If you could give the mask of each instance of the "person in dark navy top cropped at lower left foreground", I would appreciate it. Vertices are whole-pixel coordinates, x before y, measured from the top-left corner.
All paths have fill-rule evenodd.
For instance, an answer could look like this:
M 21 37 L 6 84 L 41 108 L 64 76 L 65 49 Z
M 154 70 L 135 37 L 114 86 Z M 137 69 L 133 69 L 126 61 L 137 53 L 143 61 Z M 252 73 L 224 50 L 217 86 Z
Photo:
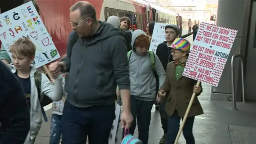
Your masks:
M 23 144 L 30 130 L 30 112 L 22 86 L 0 62 L 0 144 Z

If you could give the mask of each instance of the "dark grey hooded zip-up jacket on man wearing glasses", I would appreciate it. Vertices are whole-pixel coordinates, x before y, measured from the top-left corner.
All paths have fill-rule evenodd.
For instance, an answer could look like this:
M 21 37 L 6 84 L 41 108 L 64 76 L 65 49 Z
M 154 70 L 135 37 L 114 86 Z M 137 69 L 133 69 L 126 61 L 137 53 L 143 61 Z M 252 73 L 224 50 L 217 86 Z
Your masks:
M 69 72 L 65 91 L 67 101 L 86 108 L 115 103 L 116 86 L 130 89 L 126 43 L 122 31 L 107 22 L 90 38 L 71 32 L 67 56 L 62 59 Z

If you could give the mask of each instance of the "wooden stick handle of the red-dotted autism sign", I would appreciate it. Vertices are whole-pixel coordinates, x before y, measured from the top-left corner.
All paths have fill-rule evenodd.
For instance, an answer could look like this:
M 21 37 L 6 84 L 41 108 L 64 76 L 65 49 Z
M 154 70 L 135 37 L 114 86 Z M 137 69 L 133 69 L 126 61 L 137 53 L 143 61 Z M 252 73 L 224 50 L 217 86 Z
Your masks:
M 199 82 L 199 81 L 197 81 L 196 86 L 200 86 L 200 82 Z M 190 108 L 191 108 L 191 106 L 192 106 L 192 103 L 193 103 L 195 97 L 196 97 L 196 93 L 193 92 L 192 97 L 191 97 L 191 99 L 190 99 L 190 102 L 189 102 L 189 104 L 188 104 L 188 108 L 187 108 L 187 110 L 186 110 L 185 116 L 184 116 L 184 118 L 183 118 L 183 120 L 182 120 L 182 123 L 181 123 L 181 125 L 180 125 L 180 130 L 179 130 L 179 132 L 178 132 L 178 134 L 177 134 L 177 136 L 176 136 L 176 139 L 175 139 L 175 143 L 174 143 L 174 144 L 178 144 L 178 141 L 179 141 L 179 138 L 180 138 L 180 134 L 181 134 L 182 129 L 183 129 L 184 125 L 185 125 L 185 122 L 186 122 L 186 120 L 187 120 L 187 118 L 188 118 L 188 114 L 189 114 Z

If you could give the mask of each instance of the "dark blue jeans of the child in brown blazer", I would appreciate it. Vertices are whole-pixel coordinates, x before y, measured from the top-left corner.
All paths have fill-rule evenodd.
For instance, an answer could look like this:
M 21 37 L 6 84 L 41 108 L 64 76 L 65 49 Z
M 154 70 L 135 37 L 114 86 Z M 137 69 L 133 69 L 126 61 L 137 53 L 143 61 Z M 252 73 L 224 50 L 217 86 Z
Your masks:
M 195 117 L 188 117 L 183 127 L 183 136 L 186 140 L 186 144 L 195 144 L 193 136 L 193 124 Z M 183 120 L 183 118 L 182 118 Z M 166 144 L 174 144 L 178 131 L 180 129 L 180 116 L 177 110 L 174 111 L 172 116 L 168 116 L 168 132 Z

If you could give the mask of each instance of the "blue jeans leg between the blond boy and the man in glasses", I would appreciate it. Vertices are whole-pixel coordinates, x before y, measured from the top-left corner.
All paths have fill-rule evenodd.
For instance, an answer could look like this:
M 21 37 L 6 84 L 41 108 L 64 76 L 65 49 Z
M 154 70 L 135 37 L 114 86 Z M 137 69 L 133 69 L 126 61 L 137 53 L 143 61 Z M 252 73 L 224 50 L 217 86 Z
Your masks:
M 51 131 L 50 131 L 50 142 L 49 144 L 59 144 L 61 136 L 61 115 L 52 114 L 51 120 Z

